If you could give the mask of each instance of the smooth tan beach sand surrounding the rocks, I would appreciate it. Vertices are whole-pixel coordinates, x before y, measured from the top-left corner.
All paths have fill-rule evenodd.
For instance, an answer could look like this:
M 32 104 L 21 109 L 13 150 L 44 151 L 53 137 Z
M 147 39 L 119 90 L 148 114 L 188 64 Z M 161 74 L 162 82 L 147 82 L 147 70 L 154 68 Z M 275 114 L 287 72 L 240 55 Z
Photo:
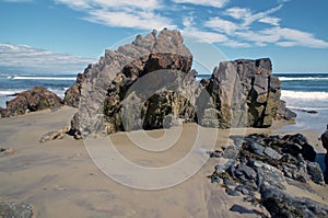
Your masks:
M 105 175 L 91 160 L 82 140 L 65 137 L 38 142 L 44 134 L 69 125 L 74 113 L 74 108 L 62 107 L 55 112 L 43 111 L 0 119 L 0 147 L 15 150 L 14 154 L 0 157 L 0 202 L 30 203 L 35 217 L 255 216 L 229 210 L 233 204 L 251 206 L 242 197 L 227 196 L 219 184 L 210 183 L 207 175 L 218 164 L 215 159 L 210 159 L 196 174 L 178 185 L 143 191 L 121 185 Z M 110 140 L 131 162 L 157 168 L 187 156 L 196 133 L 195 124 L 184 125 L 180 138 L 165 152 L 144 151 L 136 147 L 125 133 L 110 136 Z M 270 134 L 271 129 L 247 129 L 247 133 Z M 227 130 L 218 130 L 215 148 L 229 144 L 229 134 Z M 138 133 L 136 135 L 138 137 Z M 153 130 L 148 135 L 161 138 L 164 131 Z M 319 144 L 318 133 L 306 133 L 306 136 L 312 145 Z M 206 138 L 202 139 L 204 145 L 212 142 Z M 321 193 L 315 197 L 327 203 L 326 187 L 315 188 Z M 311 194 L 306 196 L 312 197 Z

